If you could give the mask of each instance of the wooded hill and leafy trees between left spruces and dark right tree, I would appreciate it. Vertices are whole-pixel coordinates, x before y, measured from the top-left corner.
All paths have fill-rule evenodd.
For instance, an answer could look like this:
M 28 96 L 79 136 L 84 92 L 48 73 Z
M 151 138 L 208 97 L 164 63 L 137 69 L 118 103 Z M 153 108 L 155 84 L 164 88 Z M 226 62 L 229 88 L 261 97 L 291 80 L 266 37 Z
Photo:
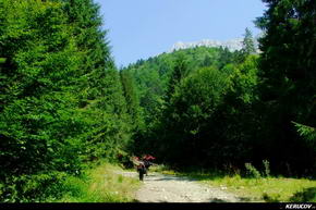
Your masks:
M 130 65 L 147 125 L 135 139 L 139 152 L 174 164 L 243 164 L 254 147 L 258 57 L 240 62 L 239 53 L 199 47 Z

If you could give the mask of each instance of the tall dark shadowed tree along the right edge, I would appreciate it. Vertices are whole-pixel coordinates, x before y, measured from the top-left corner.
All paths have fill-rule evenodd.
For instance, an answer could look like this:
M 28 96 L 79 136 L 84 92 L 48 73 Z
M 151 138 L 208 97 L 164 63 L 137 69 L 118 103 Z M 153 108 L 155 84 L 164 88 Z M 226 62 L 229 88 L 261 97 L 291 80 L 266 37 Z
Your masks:
M 316 4 L 313 0 L 264 2 L 268 10 L 257 20 L 265 34 L 259 40 L 262 145 L 267 147 L 265 156 L 279 163 L 279 171 L 287 171 L 290 162 L 295 174 L 313 173 L 315 150 L 291 122 L 316 126 Z

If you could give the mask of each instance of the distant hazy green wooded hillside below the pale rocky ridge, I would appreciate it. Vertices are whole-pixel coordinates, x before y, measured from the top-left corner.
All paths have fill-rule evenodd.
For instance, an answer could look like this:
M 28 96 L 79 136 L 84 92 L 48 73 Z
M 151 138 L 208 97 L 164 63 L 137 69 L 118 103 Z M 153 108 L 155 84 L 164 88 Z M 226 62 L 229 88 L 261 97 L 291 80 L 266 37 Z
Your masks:
M 161 110 L 166 106 L 166 99 L 173 92 L 172 81 L 179 81 L 179 71 L 183 71 L 182 77 L 198 67 L 222 65 L 218 58 L 232 60 L 231 53 L 227 49 L 199 47 L 194 49 L 179 50 L 172 53 L 162 53 L 148 60 L 139 60 L 135 64 L 126 67 L 135 82 L 135 90 L 139 98 L 142 119 L 145 120 L 146 127 L 156 126 L 161 116 Z M 178 67 L 177 67 L 178 66 Z M 179 71 L 177 71 L 179 69 Z M 185 70 L 181 70 L 185 69 Z M 173 71 L 175 70 L 175 71 Z M 124 71 L 124 70 L 123 70 Z M 172 74 L 174 74 L 172 76 Z M 178 76 L 175 74 L 179 74 Z M 171 78 L 174 77 L 174 78 Z M 169 89 L 169 90 L 168 90 Z

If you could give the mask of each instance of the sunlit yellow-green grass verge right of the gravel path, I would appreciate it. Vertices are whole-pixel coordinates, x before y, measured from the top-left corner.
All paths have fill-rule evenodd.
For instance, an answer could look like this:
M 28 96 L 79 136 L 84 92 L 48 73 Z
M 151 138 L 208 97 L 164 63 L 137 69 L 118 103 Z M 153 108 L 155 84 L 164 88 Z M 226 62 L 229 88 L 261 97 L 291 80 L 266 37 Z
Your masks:
M 316 202 L 316 181 L 288 177 L 241 177 L 217 173 L 177 173 L 236 195 L 252 202 Z

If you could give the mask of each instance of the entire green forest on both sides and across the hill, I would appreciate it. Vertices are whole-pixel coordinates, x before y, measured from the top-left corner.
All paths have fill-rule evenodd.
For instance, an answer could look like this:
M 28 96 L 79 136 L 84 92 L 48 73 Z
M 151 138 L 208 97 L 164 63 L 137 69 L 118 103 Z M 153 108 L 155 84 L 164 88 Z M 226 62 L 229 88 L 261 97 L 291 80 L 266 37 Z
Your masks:
M 93 0 L 0 0 L 0 201 L 42 200 L 90 162 L 143 153 L 315 177 L 316 2 L 263 1 L 259 50 L 245 29 L 242 50 L 118 70 Z

